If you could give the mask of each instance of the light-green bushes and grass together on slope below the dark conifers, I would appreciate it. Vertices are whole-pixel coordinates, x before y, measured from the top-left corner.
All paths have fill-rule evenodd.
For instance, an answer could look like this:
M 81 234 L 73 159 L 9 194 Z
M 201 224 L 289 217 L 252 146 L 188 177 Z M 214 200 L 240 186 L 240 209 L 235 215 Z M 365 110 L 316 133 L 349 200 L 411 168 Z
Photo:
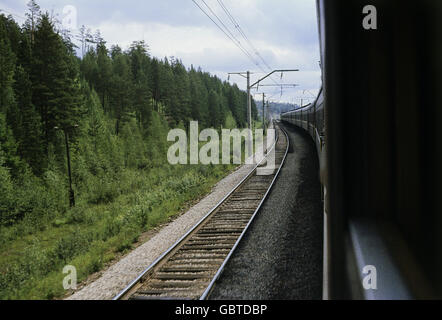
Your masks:
M 113 123 L 101 117 L 102 132 L 84 133 L 72 148 L 75 208 L 68 208 L 63 158 L 51 159 L 38 178 L 27 171 L 13 181 L 0 170 L 0 299 L 62 298 L 66 265 L 84 281 L 235 168 L 168 164 L 168 126 L 160 115 L 147 138 L 134 120 L 119 136 L 110 134 Z

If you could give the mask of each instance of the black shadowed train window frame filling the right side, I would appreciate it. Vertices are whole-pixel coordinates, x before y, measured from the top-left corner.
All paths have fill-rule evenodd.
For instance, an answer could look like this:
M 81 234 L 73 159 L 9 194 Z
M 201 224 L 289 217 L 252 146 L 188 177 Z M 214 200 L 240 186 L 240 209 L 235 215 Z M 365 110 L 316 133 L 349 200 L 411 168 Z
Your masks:
M 357 256 L 352 235 L 377 232 L 385 251 L 362 251 L 378 254 L 378 268 L 391 259 L 412 297 L 441 298 L 442 2 L 370 3 L 376 30 L 361 23 L 366 1 L 318 1 L 333 168 L 331 295 L 352 296 L 340 267 Z

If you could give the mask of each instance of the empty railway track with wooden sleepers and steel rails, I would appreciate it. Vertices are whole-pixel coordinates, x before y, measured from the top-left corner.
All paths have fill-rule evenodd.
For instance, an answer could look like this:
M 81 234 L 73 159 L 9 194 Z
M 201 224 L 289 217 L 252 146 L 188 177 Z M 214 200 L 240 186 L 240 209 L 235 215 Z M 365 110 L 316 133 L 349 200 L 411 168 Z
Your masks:
M 287 156 L 287 134 L 276 129 L 274 170 L 265 159 L 197 225 L 114 300 L 206 299 L 270 192 Z M 269 157 L 269 152 L 267 157 Z M 266 158 L 267 158 L 266 157 Z

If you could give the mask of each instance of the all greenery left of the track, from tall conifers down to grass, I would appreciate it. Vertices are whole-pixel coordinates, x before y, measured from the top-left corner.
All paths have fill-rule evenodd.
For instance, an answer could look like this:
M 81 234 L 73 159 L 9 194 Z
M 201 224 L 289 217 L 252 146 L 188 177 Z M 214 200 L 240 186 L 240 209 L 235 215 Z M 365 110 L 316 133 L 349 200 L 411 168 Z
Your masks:
M 64 266 L 85 280 L 209 192 L 235 166 L 170 165 L 167 133 L 247 116 L 235 85 L 85 27 L 76 47 L 28 7 L 21 26 L 0 15 L 0 299 L 63 297 Z

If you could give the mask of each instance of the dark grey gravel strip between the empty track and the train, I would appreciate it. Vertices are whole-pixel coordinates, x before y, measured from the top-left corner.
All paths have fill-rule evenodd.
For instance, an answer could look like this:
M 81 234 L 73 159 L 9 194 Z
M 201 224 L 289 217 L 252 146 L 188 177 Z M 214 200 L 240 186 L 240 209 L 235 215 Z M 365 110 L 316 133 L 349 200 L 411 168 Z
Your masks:
M 292 127 L 287 132 L 293 152 L 210 299 L 322 298 L 323 211 L 317 155 L 306 134 Z

